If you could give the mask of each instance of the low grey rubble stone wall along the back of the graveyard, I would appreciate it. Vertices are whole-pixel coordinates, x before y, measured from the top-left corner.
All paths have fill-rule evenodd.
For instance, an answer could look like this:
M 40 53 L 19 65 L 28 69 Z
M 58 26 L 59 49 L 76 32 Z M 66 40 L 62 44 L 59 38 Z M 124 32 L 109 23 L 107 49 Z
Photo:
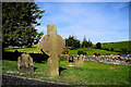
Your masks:
M 61 57 L 64 54 L 61 54 Z M 67 55 L 68 58 L 70 55 Z M 73 60 L 78 60 L 79 55 L 73 54 Z M 102 63 L 110 63 L 110 64 L 122 64 L 122 65 L 131 65 L 131 57 L 120 57 L 120 55 L 85 55 L 85 61 L 95 61 Z

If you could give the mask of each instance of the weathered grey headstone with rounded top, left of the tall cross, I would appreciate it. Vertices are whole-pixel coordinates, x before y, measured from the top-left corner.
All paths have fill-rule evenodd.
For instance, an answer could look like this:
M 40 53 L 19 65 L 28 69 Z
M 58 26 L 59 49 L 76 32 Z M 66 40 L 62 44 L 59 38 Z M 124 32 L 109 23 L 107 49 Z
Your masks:
M 28 53 L 22 53 L 17 58 L 17 69 L 20 72 L 34 72 L 33 58 Z

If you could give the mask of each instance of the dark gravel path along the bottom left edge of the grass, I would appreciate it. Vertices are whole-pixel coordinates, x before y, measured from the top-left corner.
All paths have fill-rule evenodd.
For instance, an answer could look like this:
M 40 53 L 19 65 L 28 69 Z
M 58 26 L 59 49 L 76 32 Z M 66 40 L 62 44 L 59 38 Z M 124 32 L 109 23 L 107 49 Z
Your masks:
M 71 86 L 38 79 L 31 79 L 25 77 L 2 75 L 2 87 L 71 87 Z

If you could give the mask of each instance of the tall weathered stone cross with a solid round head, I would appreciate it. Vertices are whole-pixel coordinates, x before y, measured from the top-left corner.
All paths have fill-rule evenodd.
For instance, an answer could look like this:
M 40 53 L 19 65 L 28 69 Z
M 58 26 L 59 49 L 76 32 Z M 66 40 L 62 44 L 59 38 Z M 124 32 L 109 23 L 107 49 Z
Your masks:
M 47 35 L 39 42 L 40 49 L 49 55 L 48 74 L 50 77 L 59 76 L 58 55 L 63 51 L 66 41 L 57 34 L 56 25 L 47 25 Z

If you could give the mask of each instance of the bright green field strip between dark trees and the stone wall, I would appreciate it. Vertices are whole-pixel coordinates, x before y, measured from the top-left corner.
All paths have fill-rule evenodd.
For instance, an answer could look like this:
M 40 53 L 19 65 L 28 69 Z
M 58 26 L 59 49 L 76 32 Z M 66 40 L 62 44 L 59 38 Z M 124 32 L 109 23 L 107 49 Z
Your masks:
M 86 52 L 87 55 L 93 55 L 93 52 L 95 51 L 99 52 L 100 54 L 118 54 L 119 53 L 119 52 L 112 52 L 112 51 L 100 50 L 100 49 L 80 48 L 80 49 L 69 51 L 69 54 L 78 54 L 78 51 L 80 50 Z

